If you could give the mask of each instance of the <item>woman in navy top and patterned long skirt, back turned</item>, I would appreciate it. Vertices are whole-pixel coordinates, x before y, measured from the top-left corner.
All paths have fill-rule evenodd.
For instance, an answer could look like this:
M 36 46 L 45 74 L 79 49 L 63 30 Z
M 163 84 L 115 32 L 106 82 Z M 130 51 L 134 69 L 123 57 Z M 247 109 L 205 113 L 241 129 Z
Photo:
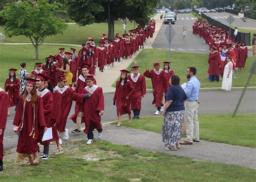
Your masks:
M 165 150 L 177 150 L 180 148 L 181 138 L 181 119 L 185 110 L 184 101 L 187 95 L 184 89 L 179 85 L 179 76 L 172 75 L 169 83 L 171 87 L 166 94 L 166 103 L 163 111 L 163 133 L 162 138 L 165 143 Z

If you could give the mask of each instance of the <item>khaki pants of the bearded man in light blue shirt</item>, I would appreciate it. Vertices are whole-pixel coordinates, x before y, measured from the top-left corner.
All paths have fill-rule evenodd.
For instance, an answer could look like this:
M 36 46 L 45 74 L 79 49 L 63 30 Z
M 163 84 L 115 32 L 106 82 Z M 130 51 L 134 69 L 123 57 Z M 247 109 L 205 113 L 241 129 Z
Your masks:
M 185 124 L 187 142 L 193 142 L 193 139 L 199 141 L 199 122 L 197 119 L 198 103 L 196 101 L 187 101 L 185 103 Z

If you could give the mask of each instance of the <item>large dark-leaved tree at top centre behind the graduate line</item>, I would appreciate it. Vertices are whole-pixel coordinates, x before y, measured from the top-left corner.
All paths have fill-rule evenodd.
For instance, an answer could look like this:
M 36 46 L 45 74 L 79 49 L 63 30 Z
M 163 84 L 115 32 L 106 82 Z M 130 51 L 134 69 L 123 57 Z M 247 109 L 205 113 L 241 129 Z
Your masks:
M 149 23 L 150 15 L 160 0 L 66 0 L 68 13 L 78 25 L 108 22 L 108 38 L 114 38 L 114 21 L 119 18 L 134 20 L 140 25 Z M 109 17 L 110 8 L 110 17 Z

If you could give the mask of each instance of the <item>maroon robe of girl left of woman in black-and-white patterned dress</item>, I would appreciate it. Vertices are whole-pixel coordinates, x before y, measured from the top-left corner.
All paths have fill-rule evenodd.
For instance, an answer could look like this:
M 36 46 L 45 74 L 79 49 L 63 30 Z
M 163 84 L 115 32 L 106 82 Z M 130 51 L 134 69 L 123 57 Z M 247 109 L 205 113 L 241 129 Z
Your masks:
M 14 86 L 9 86 L 11 84 L 14 84 Z M 5 80 L 4 83 L 4 89 L 6 92 L 8 92 L 9 96 L 9 103 L 8 107 L 16 106 L 18 98 L 19 98 L 19 87 L 21 85 L 21 82 L 18 78 L 15 79 L 15 81 L 11 81 L 9 78 Z

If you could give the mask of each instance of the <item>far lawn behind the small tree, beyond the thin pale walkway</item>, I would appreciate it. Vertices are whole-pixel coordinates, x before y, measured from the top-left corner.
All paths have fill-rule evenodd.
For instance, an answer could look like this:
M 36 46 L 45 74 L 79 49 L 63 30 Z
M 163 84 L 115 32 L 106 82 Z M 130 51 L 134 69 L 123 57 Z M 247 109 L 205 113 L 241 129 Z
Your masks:
M 134 23 L 127 21 L 127 30 L 134 29 Z M 136 25 L 137 27 L 137 25 Z M 123 23 L 115 22 L 114 32 L 123 34 Z M 4 32 L 3 26 L 0 26 L 0 32 Z M 87 41 L 87 37 L 91 36 L 98 45 L 99 39 L 102 38 L 102 33 L 107 33 L 107 23 L 91 24 L 86 26 L 79 26 L 77 24 L 69 24 L 68 29 L 64 34 L 57 34 L 56 36 L 46 37 L 44 43 L 65 43 L 65 44 L 83 44 Z M 5 37 L 5 43 L 31 43 L 30 39 L 25 36 L 14 36 L 12 38 Z

